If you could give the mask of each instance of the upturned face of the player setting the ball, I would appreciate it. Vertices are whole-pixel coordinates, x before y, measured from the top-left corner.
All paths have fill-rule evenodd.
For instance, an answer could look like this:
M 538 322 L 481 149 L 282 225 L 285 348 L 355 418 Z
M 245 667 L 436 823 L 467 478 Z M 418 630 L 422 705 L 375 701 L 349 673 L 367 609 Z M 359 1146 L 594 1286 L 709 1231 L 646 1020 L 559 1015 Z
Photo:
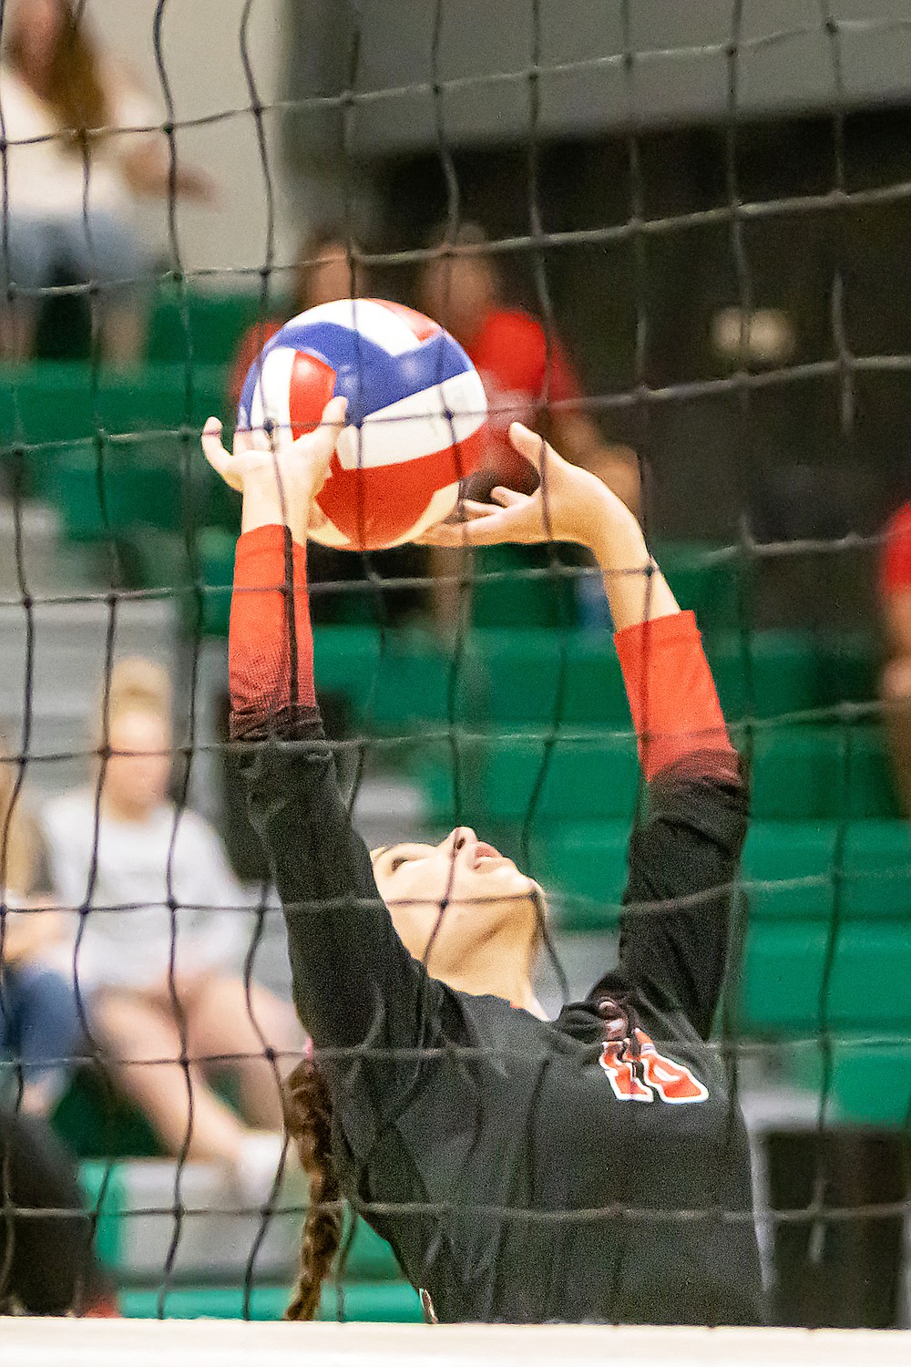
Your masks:
M 400 939 L 434 977 L 459 977 L 500 936 L 537 943 L 541 889 L 468 826 L 440 845 L 389 845 L 372 857 Z

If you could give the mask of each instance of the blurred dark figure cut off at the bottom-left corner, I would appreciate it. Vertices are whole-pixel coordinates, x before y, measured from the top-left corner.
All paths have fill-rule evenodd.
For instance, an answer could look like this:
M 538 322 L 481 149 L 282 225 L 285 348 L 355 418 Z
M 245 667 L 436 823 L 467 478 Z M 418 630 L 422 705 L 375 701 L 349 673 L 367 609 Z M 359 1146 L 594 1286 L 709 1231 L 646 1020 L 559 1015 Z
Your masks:
M 117 1314 L 70 1155 L 37 1117 L 3 1107 L 0 1200 L 0 1315 Z

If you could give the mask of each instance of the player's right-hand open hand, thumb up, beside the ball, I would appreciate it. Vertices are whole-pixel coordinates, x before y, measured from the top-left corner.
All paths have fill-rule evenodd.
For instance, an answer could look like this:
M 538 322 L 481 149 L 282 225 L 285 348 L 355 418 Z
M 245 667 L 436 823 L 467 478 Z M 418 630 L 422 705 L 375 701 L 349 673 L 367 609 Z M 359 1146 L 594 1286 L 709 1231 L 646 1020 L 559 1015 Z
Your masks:
M 464 521 L 443 522 L 421 537 L 428 545 L 494 545 L 516 541 L 576 541 L 594 547 L 616 518 L 627 522 L 632 514 L 602 481 L 587 470 L 564 461 L 544 437 L 520 422 L 509 428 L 515 450 L 538 472 L 534 493 L 494 488 L 490 498 L 500 504 L 462 504 Z

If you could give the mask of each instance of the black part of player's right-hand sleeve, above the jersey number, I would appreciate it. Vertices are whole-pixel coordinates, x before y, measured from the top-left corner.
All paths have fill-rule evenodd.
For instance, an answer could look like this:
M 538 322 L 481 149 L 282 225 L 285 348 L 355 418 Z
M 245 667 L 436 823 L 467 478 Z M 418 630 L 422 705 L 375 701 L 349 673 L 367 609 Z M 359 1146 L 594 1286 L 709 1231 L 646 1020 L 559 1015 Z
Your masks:
M 632 833 L 620 969 L 705 1039 L 724 980 L 748 794 L 742 779 L 699 774 L 692 760 L 653 779 Z

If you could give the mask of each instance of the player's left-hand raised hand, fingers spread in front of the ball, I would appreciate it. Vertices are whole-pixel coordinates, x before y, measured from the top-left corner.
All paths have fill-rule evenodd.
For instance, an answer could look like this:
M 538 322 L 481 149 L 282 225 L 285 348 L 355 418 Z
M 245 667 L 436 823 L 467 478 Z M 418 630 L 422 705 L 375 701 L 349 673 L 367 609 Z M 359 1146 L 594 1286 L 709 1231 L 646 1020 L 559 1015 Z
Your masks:
M 279 440 L 264 450 L 254 444 L 249 432 L 236 432 L 232 454 L 221 443 L 221 424 L 209 418 L 202 432 L 202 450 L 225 484 L 243 493 L 244 532 L 279 522 L 291 528 L 295 540 L 306 539 L 307 528 L 318 515 L 313 500 L 326 481 L 347 402 L 331 399 L 320 425 L 296 442 Z

